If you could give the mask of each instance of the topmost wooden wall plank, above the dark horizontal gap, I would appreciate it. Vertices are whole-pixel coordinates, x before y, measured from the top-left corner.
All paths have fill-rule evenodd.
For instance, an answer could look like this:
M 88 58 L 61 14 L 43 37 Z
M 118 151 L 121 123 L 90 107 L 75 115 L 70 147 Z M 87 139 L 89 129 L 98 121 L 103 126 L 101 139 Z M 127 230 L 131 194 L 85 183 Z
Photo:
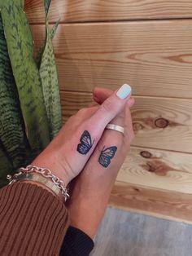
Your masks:
M 44 23 L 43 1 L 26 0 L 31 23 Z M 52 0 L 50 21 L 149 20 L 191 18 L 190 0 Z

